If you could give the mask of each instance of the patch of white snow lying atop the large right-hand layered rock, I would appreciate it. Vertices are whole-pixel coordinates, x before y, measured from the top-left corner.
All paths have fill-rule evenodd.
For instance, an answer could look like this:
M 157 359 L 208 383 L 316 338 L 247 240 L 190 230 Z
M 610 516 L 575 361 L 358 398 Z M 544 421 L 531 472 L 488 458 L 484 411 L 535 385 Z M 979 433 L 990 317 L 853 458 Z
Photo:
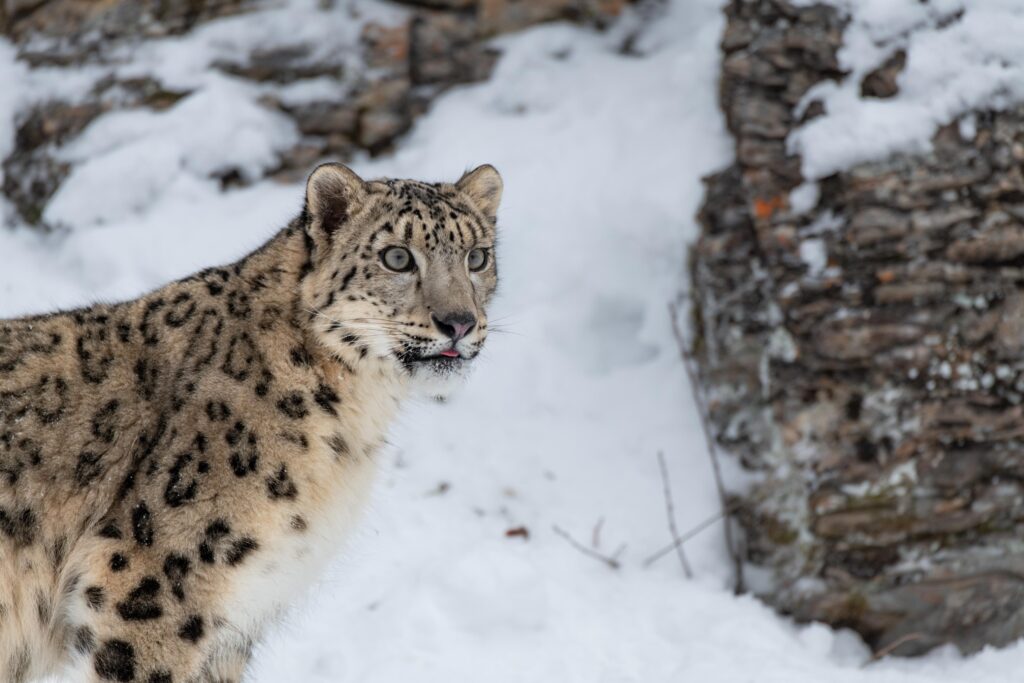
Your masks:
M 972 109 L 1024 99 L 1024 4 L 1019 0 L 834 0 L 850 23 L 840 50 L 849 76 L 812 88 L 825 115 L 792 133 L 808 179 L 897 152 L 927 152 L 940 126 Z M 899 92 L 862 98 L 860 82 L 897 49 L 906 50 Z M 968 122 L 965 132 L 973 128 Z

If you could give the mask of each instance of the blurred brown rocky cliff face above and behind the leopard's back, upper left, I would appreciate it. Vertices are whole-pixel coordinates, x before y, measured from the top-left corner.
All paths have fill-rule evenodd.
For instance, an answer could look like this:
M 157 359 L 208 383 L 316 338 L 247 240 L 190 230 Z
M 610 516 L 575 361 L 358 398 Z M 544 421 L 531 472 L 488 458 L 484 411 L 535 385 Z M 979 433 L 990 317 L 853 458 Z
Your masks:
M 49 200 L 74 161 L 60 152 L 104 114 L 167 111 L 191 92 L 132 68 L 137 48 L 154 40 L 188 36 L 225 16 L 258 14 L 283 3 L 257 0 L 0 0 L 0 33 L 18 58 L 49 78 L 89 81 L 73 95 L 32 99 L 16 120 L 14 148 L 2 162 L 2 191 L 19 222 L 51 228 Z M 288 3 L 284 3 L 288 6 Z M 299 3 L 292 2 L 298 5 Z M 314 3 L 305 3 L 314 7 Z M 384 3 L 377 3 L 384 5 Z M 330 34 L 313 44 L 282 31 L 266 44 L 218 57 L 210 69 L 264 92 L 260 106 L 294 122 L 297 142 L 279 151 L 261 173 L 303 176 L 323 159 L 377 155 L 391 148 L 434 97 L 453 85 L 489 75 L 498 50 L 488 39 L 553 19 L 603 25 L 626 0 L 404 0 L 389 11 L 367 3 L 322 0 L 325 18 L 354 31 L 354 43 Z M 370 9 L 373 9 L 371 7 Z M 309 11 L 308 8 L 306 8 Z M 313 10 L 313 11 L 314 11 Z M 310 22 L 315 23 L 315 14 Z M 302 97 L 287 93 L 306 87 Z M 227 165 L 225 186 L 253 173 Z

